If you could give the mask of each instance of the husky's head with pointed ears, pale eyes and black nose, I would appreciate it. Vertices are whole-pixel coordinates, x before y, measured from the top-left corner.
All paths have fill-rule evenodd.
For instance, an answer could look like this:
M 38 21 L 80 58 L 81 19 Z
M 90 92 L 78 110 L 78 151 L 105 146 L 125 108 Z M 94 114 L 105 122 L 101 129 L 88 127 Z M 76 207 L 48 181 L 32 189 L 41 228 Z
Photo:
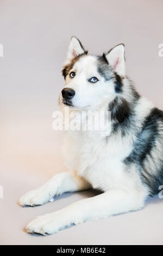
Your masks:
M 124 45 L 117 45 L 102 56 L 92 56 L 73 36 L 62 74 L 65 87 L 60 103 L 74 109 L 95 109 L 105 99 L 111 102 L 122 92 Z

